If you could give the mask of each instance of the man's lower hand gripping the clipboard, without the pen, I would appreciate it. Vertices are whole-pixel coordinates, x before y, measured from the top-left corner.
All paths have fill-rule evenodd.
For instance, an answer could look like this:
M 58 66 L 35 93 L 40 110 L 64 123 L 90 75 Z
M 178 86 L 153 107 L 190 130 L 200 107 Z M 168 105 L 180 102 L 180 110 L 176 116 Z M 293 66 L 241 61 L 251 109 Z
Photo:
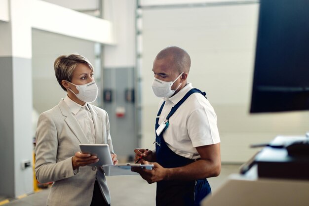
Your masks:
M 141 167 L 131 167 L 131 171 L 135 171 L 141 175 L 149 184 L 168 179 L 168 169 L 157 163 L 144 161 L 143 165 L 154 165 L 153 169 L 145 169 Z

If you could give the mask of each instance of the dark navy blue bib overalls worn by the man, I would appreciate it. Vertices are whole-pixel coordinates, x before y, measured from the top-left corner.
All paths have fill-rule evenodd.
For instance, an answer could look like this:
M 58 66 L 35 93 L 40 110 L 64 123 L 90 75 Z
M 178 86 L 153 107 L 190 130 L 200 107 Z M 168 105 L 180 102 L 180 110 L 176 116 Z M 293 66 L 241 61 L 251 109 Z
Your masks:
M 193 93 L 198 92 L 202 95 L 206 95 L 205 92 L 193 88 L 191 89 L 170 111 L 166 117 L 166 126 L 164 130 L 168 127 L 169 118 L 174 114 L 174 112 L 179 108 L 179 106 Z M 164 107 L 165 101 L 161 105 L 156 121 L 155 129 L 158 128 L 159 116 Z M 193 163 L 196 160 L 191 160 L 174 153 L 166 145 L 162 133 L 159 136 L 155 132 L 155 151 L 156 151 L 156 162 L 165 168 L 173 168 L 185 166 Z M 156 185 L 156 206 L 199 206 L 200 201 L 206 197 L 206 195 L 211 193 L 210 185 L 207 179 L 198 179 L 191 181 L 159 181 Z

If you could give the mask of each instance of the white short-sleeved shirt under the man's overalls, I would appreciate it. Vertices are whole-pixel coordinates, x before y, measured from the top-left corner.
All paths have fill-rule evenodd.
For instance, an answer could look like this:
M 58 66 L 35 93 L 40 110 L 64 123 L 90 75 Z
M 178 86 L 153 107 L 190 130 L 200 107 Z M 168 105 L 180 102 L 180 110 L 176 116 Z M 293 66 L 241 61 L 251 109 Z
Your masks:
M 188 83 L 177 94 L 164 99 L 166 102 L 159 124 L 166 120 L 172 107 L 192 88 L 192 84 Z M 164 100 L 159 103 L 159 108 Z M 173 152 L 189 159 L 200 158 L 195 147 L 219 143 L 217 116 L 209 101 L 200 93 L 191 94 L 170 117 L 163 138 Z

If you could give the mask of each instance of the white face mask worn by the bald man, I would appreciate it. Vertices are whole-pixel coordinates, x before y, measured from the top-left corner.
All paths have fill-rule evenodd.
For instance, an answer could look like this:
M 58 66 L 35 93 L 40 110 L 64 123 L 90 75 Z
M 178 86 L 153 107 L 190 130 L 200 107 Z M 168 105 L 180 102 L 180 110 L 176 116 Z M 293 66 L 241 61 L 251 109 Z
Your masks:
M 183 72 L 176 78 L 176 80 L 182 74 L 183 74 Z M 154 95 L 157 96 L 157 97 L 161 97 L 161 98 L 163 98 L 163 97 L 164 98 L 170 98 L 171 96 L 173 96 L 175 91 L 182 84 L 182 83 L 180 83 L 179 86 L 177 86 L 177 88 L 175 90 L 172 90 L 172 85 L 176 80 L 174 80 L 173 82 L 164 82 L 162 80 L 158 80 L 158 79 L 154 78 L 154 82 L 153 82 L 153 85 L 152 85 Z

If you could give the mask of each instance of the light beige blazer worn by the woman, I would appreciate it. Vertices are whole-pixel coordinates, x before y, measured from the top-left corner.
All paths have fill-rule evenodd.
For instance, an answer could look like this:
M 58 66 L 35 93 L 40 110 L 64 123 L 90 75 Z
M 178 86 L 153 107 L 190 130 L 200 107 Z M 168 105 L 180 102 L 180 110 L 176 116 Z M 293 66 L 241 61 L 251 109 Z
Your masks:
M 95 143 L 108 144 L 114 152 L 107 112 L 89 106 Z M 110 193 L 101 167 L 81 166 L 79 172 L 74 174 L 72 157 L 80 151 L 80 143 L 89 142 L 63 99 L 39 116 L 36 139 L 36 177 L 40 183 L 54 182 L 47 198 L 48 206 L 90 206 L 95 179 L 105 200 L 110 203 Z

